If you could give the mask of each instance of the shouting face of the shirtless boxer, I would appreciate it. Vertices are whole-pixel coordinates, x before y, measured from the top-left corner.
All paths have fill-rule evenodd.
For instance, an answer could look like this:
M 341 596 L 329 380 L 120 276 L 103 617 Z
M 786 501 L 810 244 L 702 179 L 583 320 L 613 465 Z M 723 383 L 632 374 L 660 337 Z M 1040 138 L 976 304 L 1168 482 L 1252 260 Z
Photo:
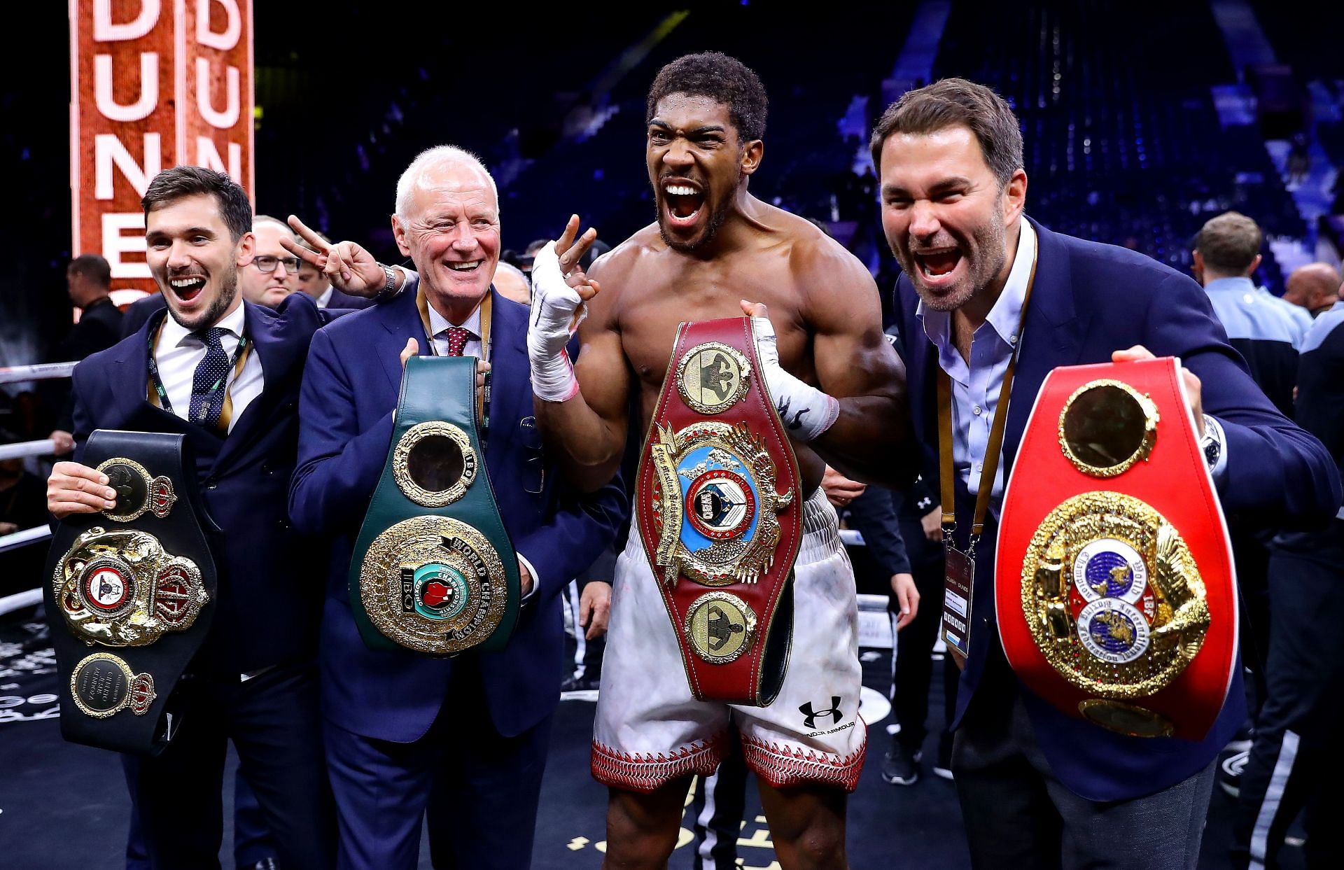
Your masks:
M 762 151 L 761 140 L 741 141 L 724 104 L 688 94 L 660 100 L 645 160 L 663 241 L 687 251 L 714 239 Z

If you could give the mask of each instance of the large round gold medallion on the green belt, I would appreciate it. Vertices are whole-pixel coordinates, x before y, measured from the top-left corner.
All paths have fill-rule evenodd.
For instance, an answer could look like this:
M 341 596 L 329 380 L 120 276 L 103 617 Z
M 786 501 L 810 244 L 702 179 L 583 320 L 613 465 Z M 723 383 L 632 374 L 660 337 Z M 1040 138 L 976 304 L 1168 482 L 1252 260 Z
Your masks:
M 508 604 L 499 553 L 450 516 L 403 519 L 378 535 L 360 567 L 359 594 L 378 631 L 431 655 L 487 640 Z

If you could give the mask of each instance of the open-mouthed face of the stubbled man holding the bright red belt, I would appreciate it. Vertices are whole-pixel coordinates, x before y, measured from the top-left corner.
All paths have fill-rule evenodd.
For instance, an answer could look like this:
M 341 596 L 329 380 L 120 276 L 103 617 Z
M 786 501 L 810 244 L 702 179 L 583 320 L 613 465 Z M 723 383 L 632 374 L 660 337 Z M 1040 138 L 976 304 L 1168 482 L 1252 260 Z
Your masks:
M 934 311 L 1003 288 L 1025 196 L 1027 173 L 1017 169 L 1000 188 L 968 126 L 895 133 L 882 147 L 882 229 Z

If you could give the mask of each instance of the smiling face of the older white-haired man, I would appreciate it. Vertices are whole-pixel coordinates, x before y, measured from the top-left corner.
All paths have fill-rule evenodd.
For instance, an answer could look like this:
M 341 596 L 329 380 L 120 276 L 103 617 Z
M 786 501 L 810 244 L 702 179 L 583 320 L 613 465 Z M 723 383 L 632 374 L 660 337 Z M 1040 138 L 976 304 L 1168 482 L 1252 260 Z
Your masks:
M 406 214 L 392 215 L 392 233 L 441 315 L 470 313 L 485 297 L 500 260 L 500 216 L 491 182 L 477 167 L 429 167 Z

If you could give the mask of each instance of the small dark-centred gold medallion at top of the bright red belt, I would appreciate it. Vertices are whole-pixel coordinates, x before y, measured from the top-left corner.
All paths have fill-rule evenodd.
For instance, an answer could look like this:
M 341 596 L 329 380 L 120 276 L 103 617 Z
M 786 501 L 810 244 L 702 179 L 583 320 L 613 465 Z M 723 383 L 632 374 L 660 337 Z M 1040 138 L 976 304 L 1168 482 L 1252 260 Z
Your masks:
M 1085 475 L 1114 477 L 1152 454 L 1157 420 L 1157 405 L 1124 381 L 1091 381 L 1059 411 L 1059 446 Z

